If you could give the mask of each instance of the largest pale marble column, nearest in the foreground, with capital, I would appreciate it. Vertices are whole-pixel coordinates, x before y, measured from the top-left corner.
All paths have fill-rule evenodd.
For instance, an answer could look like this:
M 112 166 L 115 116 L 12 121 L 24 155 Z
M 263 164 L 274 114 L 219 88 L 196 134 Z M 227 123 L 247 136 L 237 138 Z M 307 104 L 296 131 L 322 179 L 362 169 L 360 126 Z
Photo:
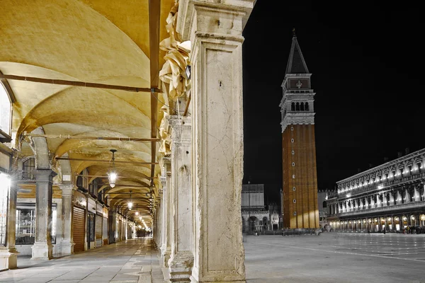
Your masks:
M 192 46 L 192 282 L 245 282 L 242 31 L 254 2 L 179 2 L 177 30 Z

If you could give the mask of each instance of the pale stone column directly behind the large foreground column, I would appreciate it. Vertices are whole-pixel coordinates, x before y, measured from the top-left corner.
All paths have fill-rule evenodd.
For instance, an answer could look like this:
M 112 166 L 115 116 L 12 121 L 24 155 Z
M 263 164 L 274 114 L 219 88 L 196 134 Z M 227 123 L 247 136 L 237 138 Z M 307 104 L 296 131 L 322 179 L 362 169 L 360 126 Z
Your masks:
M 170 282 L 190 282 L 193 267 L 191 119 L 169 116 L 171 126 Z

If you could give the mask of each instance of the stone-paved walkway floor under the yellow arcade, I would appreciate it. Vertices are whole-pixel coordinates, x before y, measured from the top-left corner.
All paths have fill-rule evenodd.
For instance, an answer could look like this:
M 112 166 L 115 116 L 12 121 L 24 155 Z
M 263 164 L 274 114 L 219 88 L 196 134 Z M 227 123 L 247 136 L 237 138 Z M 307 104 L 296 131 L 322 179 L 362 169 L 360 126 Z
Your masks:
M 137 238 L 49 261 L 18 257 L 0 282 L 164 283 L 152 238 Z

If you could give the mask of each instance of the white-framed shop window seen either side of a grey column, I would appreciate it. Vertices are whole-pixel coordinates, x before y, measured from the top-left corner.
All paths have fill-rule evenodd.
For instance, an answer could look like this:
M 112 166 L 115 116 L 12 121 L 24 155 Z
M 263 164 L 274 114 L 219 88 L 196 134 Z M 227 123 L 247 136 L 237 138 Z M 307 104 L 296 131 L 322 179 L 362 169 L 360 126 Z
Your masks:
M 16 245 L 33 245 L 35 241 L 35 204 L 16 204 Z M 56 204 L 52 204 L 52 243 L 56 243 Z

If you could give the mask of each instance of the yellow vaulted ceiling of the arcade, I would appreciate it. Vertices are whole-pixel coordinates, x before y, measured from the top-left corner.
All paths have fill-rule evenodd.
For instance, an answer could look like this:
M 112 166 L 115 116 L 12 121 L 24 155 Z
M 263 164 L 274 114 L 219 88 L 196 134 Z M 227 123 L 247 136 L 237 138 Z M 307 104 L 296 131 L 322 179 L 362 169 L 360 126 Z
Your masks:
M 168 37 L 165 20 L 174 0 L 156 1 L 159 11 L 149 10 L 149 0 L 2 0 L 0 71 L 21 77 L 157 87 L 151 74 L 164 64 L 164 52 L 150 42 L 149 35 L 156 30 L 159 41 Z M 159 18 L 159 27 L 149 27 L 152 17 Z M 158 62 L 158 70 L 152 71 L 152 60 Z M 152 126 L 157 128 L 162 119 L 162 105 L 152 102 L 150 93 L 17 79 L 8 83 L 16 97 L 12 144 L 23 156 L 32 153 L 25 141 L 19 144 L 18 137 L 38 127 L 45 135 L 74 137 L 46 139 L 53 164 L 69 164 L 66 171 L 73 174 L 87 168 L 89 175 L 104 177 L 110 163 L 96 160 L 110 160 L 110 149 L 117 149 L 115 160 L 127 163 L 115 164 L 119 185 L 112 190 L 106 186 L 105 192 L 109 191 L 112 205 L 125 207 L 123 196 L 131 190 L 139 212 L 149 214 L 146 193 L 152 190 L 150 177 L 160 170 L 158 165 L 152 169 L 151 164 L 141 163 L 151 162 L 152 142 L 82 137 L 151 138 L 157 130 Z M 55 157 L 70 160 L 57 162 Z M 158 187 L 157 179 L 154 185 Z

